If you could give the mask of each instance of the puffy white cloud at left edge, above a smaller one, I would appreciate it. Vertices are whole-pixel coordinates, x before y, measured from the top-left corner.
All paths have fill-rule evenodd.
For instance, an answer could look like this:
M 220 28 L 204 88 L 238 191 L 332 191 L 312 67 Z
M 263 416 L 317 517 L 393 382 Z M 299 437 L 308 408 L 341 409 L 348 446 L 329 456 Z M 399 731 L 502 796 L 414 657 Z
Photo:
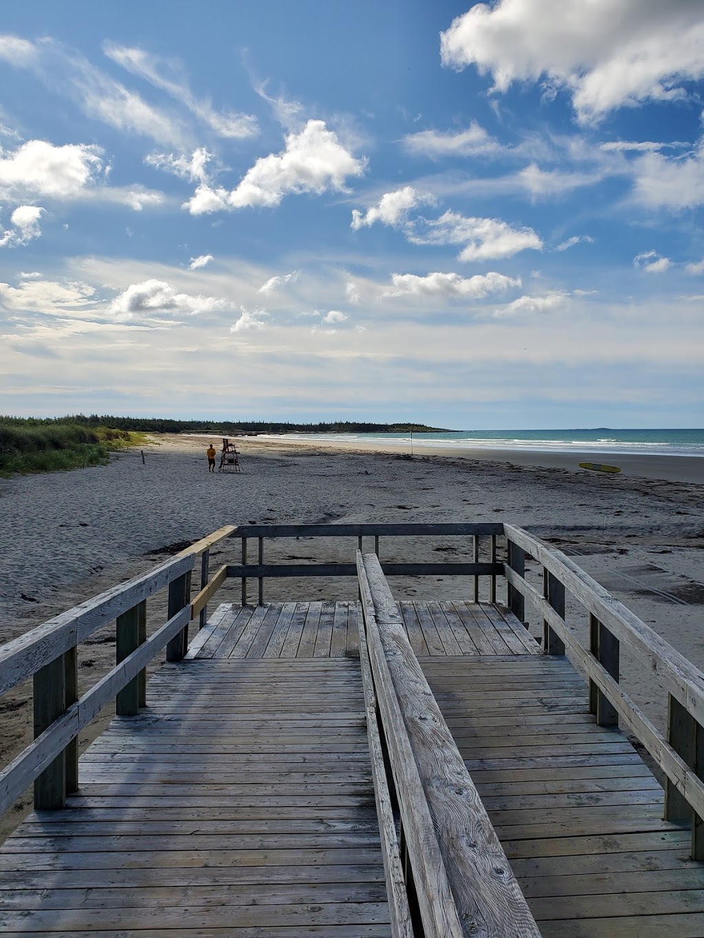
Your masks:
M 71 199 L 102 172 L 102 150 L 94 144 L 54 146 L 30 140 L 13 153 L 0 150 L 0 196 Z

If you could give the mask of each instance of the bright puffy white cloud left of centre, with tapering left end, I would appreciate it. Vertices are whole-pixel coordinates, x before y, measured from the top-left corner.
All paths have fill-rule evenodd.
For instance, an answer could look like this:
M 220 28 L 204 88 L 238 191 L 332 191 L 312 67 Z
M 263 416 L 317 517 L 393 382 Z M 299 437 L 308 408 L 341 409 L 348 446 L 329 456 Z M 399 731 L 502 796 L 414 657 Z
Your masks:
M 349 176 L 364 172 L 365 159 L 356 159 L 324 121 L 309 120 L 299 133 L 289 133 L 281 153 L 257 159 L 236 189 L 199 186 L 184 207 L 192 215 L 262 205 L 274 207 L 286 195 L 329 190 L 344 191 Z

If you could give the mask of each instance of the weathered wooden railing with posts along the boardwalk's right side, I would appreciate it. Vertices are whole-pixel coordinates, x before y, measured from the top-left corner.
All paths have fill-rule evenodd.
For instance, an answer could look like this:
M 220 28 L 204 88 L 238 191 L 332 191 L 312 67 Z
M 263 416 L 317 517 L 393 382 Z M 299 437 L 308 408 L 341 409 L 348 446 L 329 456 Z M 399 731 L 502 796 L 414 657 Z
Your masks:
M 543 616 L 548 654 L 567 654 L 589 677 L 589 707 L 601 726 L 624 719 L 666 775 L 666 820 L 691 822 L 692 855 L 704 859 L 704 673 L 569 557 L 505 524 L 509 604 L 521 619 L 529 599 Z M 543 595 L 525 579 L 525 557 L 543 566 Z M 589 613 L 589 649 L 565 622 L 565 591 Z M 620 643 L 645 660 L 668 694 L 667 738 L 619 686 Z

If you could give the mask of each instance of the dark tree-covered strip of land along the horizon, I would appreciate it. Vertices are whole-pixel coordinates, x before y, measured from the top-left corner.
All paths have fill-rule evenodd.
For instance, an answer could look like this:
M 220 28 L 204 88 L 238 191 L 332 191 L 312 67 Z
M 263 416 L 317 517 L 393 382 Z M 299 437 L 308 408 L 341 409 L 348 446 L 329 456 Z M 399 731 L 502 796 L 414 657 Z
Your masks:
M 46 426 L 73 424 L 81 427 L 110 427 L 138 433 L 451 433 L 444 427 L 426 427 L 422 423 L 365 423 L 360 420 L 337 420 L 318 423 L 289 423 L 279 420 L 175 420 L 164 417 L 99 416 L 76 414 L 41 419 L 38 417 L 8 418 L 16 425 Z

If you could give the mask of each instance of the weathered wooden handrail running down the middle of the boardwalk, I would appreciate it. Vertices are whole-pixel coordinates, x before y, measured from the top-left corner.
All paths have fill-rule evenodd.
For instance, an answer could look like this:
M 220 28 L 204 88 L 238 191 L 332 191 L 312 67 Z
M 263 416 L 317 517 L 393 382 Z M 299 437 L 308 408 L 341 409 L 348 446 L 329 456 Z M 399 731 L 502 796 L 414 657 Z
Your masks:
M 539 938 L 408 643 L 378 558 L 358 552 L 357 565 L 378 714 L 423 932 L 444 938 Z

